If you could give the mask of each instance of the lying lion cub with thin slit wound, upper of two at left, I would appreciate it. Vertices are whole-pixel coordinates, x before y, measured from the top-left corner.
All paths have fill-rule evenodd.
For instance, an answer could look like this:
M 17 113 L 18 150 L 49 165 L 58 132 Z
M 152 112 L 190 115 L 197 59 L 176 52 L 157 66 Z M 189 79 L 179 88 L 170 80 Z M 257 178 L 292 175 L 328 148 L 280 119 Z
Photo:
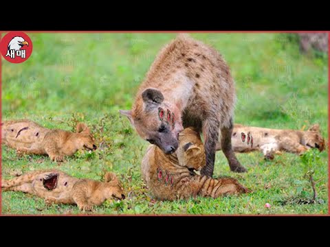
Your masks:
M 77 124 L 76 133 L 50 130 L 25 119 L 5 121 L 1 125 L 1 141 L 19 153 L 48 154 L 52 161 L 63 161 L 64 156 L 72 156 L 82 148 L 96 150 L 86 124 Z

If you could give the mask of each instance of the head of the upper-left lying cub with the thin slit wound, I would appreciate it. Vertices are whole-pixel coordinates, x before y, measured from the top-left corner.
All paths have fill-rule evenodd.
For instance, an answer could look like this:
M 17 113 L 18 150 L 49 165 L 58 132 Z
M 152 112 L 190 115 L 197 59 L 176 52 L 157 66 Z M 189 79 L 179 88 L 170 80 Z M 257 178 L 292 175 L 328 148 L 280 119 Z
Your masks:
M 87 150 L 96 150 L 95 139 L 91 135 L 89 128 L 86 124 L 78 123 L 76 126 L 76 140 L 75 143 L 78 145 L 76 148 L 85 148 Z

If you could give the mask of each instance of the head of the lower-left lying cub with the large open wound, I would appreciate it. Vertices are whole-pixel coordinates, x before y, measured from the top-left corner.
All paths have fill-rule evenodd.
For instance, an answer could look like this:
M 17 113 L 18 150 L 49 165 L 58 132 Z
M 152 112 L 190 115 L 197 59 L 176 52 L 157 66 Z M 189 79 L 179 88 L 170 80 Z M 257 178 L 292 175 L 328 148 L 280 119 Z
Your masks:
M 107 172 L 104 175 L 104 197 L 106 199 L 125 199 L 124 188 L 120 185 L 120 182 L 113 172 Z

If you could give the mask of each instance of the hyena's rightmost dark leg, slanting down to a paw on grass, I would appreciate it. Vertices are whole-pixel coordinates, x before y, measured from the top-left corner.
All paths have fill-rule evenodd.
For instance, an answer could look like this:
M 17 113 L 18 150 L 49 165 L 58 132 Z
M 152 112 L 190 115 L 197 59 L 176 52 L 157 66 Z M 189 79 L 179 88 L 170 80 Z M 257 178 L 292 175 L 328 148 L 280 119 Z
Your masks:
M 230 119 L 230 126 L 221 129 L 221 148 L 225 158 L 227 158 L 230 170 L 232 172 L 247 172 L 247 170 L 239 163 L 234 151 L 232 150 L 232 119 Z

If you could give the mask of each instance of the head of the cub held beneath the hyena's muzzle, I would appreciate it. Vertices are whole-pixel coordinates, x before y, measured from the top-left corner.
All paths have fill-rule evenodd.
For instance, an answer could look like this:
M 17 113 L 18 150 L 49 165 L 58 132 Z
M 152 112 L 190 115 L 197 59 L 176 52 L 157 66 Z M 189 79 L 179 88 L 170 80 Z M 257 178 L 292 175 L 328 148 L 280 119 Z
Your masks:
M 179 148 L 176 151 L 179 164 L 195 170 L 206 165 L 205 151 L 201 137 L 193 128 L 185 128 L 179 134 Z

